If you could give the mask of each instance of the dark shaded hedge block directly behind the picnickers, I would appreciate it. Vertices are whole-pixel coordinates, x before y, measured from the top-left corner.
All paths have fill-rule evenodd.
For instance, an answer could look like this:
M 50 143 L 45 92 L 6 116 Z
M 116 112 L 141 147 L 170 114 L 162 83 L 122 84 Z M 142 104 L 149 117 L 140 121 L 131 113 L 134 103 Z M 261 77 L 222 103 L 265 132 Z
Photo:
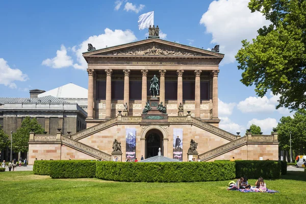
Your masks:
M 278 179 L 281 176 L 281 162 L 236 160 L 236 177 L 247 176 L 249 179 Z M 286 165 L 287 168 L 287 165 Z

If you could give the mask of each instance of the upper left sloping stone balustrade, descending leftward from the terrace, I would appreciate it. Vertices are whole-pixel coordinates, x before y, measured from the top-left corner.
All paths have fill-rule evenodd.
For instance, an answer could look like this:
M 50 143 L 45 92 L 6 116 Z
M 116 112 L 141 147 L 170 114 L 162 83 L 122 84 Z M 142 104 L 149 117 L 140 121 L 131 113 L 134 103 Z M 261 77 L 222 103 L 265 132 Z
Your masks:
M 96 132 L 99 132 L 101 130 L 107 129 L 107 127 L 112 126 L 116 123 L 117 123 L 117 117 L 114 117 L 110 120 L 107 120 L 105 122 L 101 122 L 97 125 L 89 127 L 88 129 L 85 129 L 83 131 L 75 133 L 75 134 L 71 135 L 71 138 L 73 140 L 81 140 L 82 138 L 85 138 L 88 135 L 92 135 L 93 133 L 96 133 Z

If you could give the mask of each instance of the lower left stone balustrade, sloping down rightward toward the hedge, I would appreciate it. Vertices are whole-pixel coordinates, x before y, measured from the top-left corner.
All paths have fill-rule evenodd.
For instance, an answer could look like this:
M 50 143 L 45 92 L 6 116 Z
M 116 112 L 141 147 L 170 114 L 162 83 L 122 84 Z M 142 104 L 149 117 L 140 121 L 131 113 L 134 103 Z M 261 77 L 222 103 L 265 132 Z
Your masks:
M 109 155 L 109 154 L 107 154 L 103 151 L 100 151 L 98 149 L 95 149 L 95 148 L 93 148 L 91 146 L 88 146 L 86 144 L 83 144 L 81 142 L 75 141 L 75 140 L 70 139 L 70 138 L 68 138 L 66 136 L 63 136 L 63 135 L 62 135 L 62 143 L 65 144 L 66 146 L 69 146 L 73 149 L 81 151 L 84 154 L 95 157 L 97 159 L 102 159 L 102 160 L 105 160 L 105 161 L 111 161 L 111 159 L 112 159 L 111 155 Z

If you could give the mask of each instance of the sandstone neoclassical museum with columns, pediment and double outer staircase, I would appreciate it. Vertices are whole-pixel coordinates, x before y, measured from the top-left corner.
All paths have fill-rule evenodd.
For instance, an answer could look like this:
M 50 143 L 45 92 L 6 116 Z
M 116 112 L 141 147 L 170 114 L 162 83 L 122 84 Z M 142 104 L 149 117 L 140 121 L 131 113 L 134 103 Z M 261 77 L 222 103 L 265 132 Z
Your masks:
M 89 44 L 83 53 L 87 129 L 73 135 L 61 129 L 53 135 L 31 133 L 29 163 L 35 158 L 140 160 L 157 156 L 159 148 L 180 161 L 277 160 L 277 133 L 240 136 L 219 129 L 224 55 L 218 46 L 212 50 L 158 36 L 97 50 Z

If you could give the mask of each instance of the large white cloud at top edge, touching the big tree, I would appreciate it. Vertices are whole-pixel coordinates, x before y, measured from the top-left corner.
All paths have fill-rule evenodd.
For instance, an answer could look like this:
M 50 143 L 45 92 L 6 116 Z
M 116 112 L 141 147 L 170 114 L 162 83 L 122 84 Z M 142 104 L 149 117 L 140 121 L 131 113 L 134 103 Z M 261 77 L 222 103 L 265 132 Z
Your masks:
M 213 1 L 202 15 L 200 24 L 212 34 L 211 43 L 220 44 L 220 53 L 225 54 L 223 64 L 235 61 L 241 41 L 257 36 L 257 30 L 270 24 L 260 12 L 251 13 L 249 0 Z

